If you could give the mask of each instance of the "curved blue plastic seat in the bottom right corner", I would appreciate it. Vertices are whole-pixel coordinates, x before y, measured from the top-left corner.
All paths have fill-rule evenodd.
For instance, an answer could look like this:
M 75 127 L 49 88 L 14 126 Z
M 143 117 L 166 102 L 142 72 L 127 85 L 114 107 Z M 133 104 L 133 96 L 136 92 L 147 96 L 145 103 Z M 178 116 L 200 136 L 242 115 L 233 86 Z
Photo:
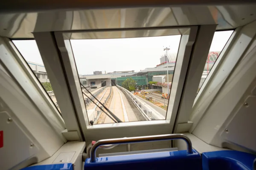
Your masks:
M 203 170 L 253 170 L 255 155 L 234 150 L 202 154 Z

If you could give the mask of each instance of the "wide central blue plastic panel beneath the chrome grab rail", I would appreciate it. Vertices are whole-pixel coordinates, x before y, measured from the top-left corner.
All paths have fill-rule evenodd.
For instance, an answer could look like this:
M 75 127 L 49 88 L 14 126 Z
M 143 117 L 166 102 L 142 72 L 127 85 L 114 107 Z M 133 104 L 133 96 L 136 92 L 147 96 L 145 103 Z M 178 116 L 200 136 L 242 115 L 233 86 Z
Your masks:
M 91 163 L 87 158 L 84 170 L 201 170 L 201 156 L 195 150 L 188 154 L 186 150 L 142 153 L 124 156 L 96 158 Z

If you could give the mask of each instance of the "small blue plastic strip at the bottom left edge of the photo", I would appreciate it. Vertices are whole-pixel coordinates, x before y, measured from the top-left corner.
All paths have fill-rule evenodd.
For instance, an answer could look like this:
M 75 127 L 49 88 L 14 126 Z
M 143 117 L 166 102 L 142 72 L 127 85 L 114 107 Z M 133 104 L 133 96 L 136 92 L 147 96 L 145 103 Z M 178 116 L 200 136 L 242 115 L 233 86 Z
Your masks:
M 25 167 L 21 170 L 73 170 L 73 165 L 71 163 L 36 165 L 31 167 Z

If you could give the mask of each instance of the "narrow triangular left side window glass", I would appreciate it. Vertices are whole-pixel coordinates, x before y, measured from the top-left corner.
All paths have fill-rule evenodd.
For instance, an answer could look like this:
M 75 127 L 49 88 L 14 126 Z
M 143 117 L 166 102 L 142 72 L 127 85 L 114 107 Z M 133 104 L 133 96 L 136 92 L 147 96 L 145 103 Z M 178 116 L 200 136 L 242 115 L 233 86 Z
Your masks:
M 57 100 L 55 98 L 51 83 L 47 76 L 47 72 L 44 67 L 44 63 L 42 61 L 42 58 L 35 40 L 13 40 L 12 42 L 15 44 L 20 54 L 26 60 L 29 67 L 32 69 L 35 76 L 38 78 L 38 81 L 47 91 L 52 102 L 55 104 L 55 106 L 60 112 Z

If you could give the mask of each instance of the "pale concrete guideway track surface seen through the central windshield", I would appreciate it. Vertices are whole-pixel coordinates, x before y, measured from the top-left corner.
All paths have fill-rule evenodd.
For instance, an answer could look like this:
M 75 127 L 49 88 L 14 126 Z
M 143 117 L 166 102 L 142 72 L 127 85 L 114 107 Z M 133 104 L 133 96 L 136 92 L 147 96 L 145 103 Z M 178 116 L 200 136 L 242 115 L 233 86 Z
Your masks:
M 134 112 L 130 104 L 128 103 L 125 95 L 123 94 L 123 92 L 119 90 L 116 86 L 112 86 L 112 88 L 113 88 L 113 98 L 109 106 L 110 111 L 113 112 L 113 114 L 115 114 L 122 122 L 125 122 L 124 109 L 122 108 L 122 101 L 120 97 L 120 94 L 121 94 L 124 102 L 125 110 L 128 115 L 128 120 L 137 121 L 137 118 L 134 115 Z M 107 116 L 104 123 L 113 123 L 113 121 L 111 120 L 111 118 Z

